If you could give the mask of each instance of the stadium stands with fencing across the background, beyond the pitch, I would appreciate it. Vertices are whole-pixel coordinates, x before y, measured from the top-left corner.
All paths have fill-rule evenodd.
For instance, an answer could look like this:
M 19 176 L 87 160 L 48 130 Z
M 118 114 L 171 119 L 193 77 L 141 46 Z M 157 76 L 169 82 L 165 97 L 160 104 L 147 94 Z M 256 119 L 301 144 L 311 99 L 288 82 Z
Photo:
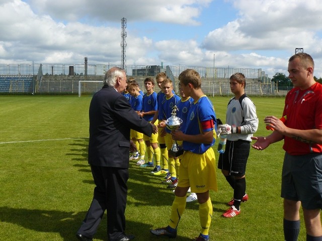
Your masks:
M 114 64 L 0 64 L 0 93 L 10 94 L 93 94 L 102 88 L 105 72 Z M 229 95 L 229 77 L 236 72 L 247 78 L 246 92 L 250 95 L 286 94 L 279 91 L 262 69 L 191 67 L 162 65 L 127 65 L 126 73 L 133 76 L 144 90 L 144 79 L 166 72 L 178 92 L 178 76 L 185 69 L 194 69 L 202 76 L 202 89 L 208 95 Z

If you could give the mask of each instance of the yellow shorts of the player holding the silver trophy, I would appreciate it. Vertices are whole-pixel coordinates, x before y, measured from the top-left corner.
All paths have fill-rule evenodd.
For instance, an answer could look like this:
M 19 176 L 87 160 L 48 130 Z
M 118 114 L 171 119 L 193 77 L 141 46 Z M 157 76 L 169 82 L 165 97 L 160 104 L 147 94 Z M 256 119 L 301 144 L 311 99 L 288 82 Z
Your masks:
M 180 163 L 178 187 L 191 187 L 191 192 L 217 191 L 216 160 L 212 148 L 204 154 L 186 151 Z

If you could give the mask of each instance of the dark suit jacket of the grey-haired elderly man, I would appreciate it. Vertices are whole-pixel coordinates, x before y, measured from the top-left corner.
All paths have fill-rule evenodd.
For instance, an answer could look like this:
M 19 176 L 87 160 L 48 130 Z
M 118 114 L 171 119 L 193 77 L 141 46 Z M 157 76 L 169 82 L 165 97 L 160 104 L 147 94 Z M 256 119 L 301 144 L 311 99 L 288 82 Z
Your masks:
M 90 104 L 89 164 L 129 167 L 130 129 L 147 136 L 152 126 L 113 87 L 104 86 Z

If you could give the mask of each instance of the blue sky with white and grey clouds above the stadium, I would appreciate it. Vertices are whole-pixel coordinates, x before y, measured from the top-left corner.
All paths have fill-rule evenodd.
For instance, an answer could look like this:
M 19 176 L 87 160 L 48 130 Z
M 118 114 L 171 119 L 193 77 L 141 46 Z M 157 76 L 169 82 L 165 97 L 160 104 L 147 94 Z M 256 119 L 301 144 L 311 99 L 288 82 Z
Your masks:
M 0 63 L 261 68 L 287 73 L 295 48 L 322 77 L 320 0 L 0 0 Z

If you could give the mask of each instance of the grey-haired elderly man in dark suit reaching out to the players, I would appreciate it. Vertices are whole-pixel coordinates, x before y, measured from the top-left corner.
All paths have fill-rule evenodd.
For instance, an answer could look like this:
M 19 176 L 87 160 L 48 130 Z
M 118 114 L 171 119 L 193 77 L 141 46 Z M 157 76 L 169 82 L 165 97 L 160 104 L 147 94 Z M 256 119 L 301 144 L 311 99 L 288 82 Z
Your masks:
M 128 241 L 125 207 L 129 177 L 130 129 L 151 136 L 157 128 L 141 118 L 121 94 L 126 87 L 125 71 L 118 67 L 105 74 L 104 86 L 90 104 L 89 164 L 95 182 L 94 197 L 76 237 L 93 240 L 105 210 L 110 241 Z

